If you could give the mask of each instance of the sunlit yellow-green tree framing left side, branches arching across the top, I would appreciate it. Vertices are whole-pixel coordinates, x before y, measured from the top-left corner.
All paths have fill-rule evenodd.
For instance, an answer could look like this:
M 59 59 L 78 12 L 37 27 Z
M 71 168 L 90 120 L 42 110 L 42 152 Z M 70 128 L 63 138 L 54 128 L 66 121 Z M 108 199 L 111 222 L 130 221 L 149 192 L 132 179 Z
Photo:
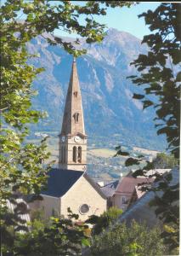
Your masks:
M 100 42 L 104 38 L 104 25 L 93 20 L 93 15 L 106 15 L 107 7 L 129 6 L 131 3 L 88 1 L 79 5 L 71 1 L 7 0 L 0 7 L 0 241 L 1 252 L 14 247 L 19 230 L 27 230 L 20 214 L 27 211 L 24 203 L 18 203 L 22 195 L 39 198 L 46 185 L 48 160 L 45 140 L 39 145 L 25 143 L 29 124 L 37 123 L 46 114 L 32 108 L 31 98 L 36 95 L 32 82 L 43 70 L 28 64 L 36 55 L 27 52 L 25 44 L 43 32 L 63 29 L 76 32 L 87 43 Z M 84 17 L 84 25 L 80 22 Z M 23 20 L 20 20 L 23 17 Z M 43 35 L 42 35 L 43 36 Z M 48 38 L 47 38 L 48 39 Z M 77 56 L 85 51 L 77 50 L 75 44 L 61 38 L 48 39 L 51 44 L 60 44 L 66 51 Z M 9 212 L 7 201 L 14 204 Z

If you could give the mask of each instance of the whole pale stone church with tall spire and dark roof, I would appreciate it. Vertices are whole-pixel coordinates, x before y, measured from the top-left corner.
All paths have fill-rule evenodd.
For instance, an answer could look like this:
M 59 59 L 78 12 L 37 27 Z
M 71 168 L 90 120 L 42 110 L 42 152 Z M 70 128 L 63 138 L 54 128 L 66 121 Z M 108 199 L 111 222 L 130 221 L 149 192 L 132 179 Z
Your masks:
M 105 212 L 106 196 L 88 176 L 86 166 L 87 135 L 74 58 L 59 134 L 59 168 L 48 173 L 48 188 L 41 194 L 43 200 L 33 204 L 33 208 L 42 208 L 45 218 L 48 218 L 53 214 L 67 217 L 67 208 L 70 207 L 80 220 Z

